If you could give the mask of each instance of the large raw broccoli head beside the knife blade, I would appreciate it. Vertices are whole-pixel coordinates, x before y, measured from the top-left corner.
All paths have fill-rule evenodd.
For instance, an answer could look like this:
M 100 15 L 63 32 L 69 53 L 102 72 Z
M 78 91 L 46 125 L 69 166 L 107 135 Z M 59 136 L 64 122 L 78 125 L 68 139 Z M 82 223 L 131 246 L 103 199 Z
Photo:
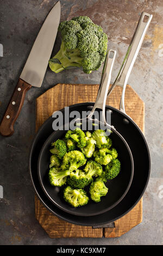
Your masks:
M 83 67 L 86 74 L 97 70 L 103 63 L 108 48 L 108 36 L 101 26 L 94 24 L 89 17 L 74 17 L 61 22 L 61 47 L 49 67 L 55 73 L 72 67 Z

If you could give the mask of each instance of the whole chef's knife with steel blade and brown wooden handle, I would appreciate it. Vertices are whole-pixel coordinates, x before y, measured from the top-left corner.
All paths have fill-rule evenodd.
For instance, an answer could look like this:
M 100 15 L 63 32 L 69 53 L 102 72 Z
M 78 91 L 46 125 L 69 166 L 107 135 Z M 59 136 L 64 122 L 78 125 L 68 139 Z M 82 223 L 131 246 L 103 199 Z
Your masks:
M 37 35 L 7 110 L 1 120 L 0 133 L 3 136 L 11 136 L 14 133 L 13 126 L 21 111 L 27 91 L 32 86 L 41 87 L 57 36 L 60 10 L 60 2 L 57 2 Z

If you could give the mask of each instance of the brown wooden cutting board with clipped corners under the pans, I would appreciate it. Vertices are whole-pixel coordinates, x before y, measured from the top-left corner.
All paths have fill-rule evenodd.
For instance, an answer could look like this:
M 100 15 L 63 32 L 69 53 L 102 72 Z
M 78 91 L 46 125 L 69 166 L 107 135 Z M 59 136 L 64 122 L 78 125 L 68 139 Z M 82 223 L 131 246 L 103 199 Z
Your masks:
M 54 111 L 81 102 L 95 102 L 98 84 L 57 84 L 36 99 L 36 131 Z M 106 105 L 118 108 L 122 88 L 116 86 Z M 144 132 L 145 105 L 128 85 L 125 95 L 126 113 Z M 54 216 L 35 196 L 35 216 L 51 238 L 61 237 L 118 237 L 142 222 L 142 198 L 136 206 L 108 227 L 83 227 L 74 225 Z

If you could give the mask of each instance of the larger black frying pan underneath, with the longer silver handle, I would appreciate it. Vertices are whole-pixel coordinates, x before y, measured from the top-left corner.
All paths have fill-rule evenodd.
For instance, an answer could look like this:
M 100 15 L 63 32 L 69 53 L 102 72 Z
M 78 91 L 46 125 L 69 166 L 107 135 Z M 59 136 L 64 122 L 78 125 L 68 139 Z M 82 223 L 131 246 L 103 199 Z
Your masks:
M 135 62 L 135 58 L 137 56 L 137 53 L 139 52 L 139 48 L 141 46 L 140 42 L 142 43 L 142 40 L 145 36 L 146 30 L 149 26 L 149 22 L 145 23 L 143 22 L 143 17 L 148 16 L 149 22 L 152 19 L 151 15 L 148 15 L 146 13 L 143 13 L 139 22 L 139 26 L 137 26 L 137 33 L 134 34 L 135 38 L 140 36 L 139 41 L 132 40 L 130 48 L 127 52 L 127 56 L 125 57 L 125 62 L 123 62 L 123 65 L 121 67 L 120 73 L 118 74 L 118 78 L 116 79 L 113 86 L 116 86 L 118 82 L 121 80 L 121 78 L 124 75 L 125 68 L 127 68 L 129 62 L 130 67 L 133 66 Z M 142 25 L 144 25 L 142 29 Z M 141 31 L 141 34 L 138 32 Z M 135 39 L 134 38 L 134 39 Z M 135 45 L 136 50 L 135 51 Z M 134 52 L 134 56 L 133 56 Z M 128 78 L 129 73 L 131 71 L 131 68 L 128 68 L 128 73 L 126 77 Z M 127 78 L 123 82 L 123 92 L 122 92 L 122 99 L 121 99 L 121 106 L 123 107 L 123 96 L 124 91 L 127 84 Z M 111 90 L 110 90 L 111 92 Z M 86 102 L 86 103 L 79 103 L 76 105 L 70 106 L 70 112 L 78 109 L 82 116 L 83 111 L 90 110 L 95 103 L 92 102 Z M 58 207 L 56 204 L 52 202 L 51 199 L 49 199 L 43 190 L 38 172 L 37 172 L 37 162 L 39 160 L 39 154 L 40 151 L 49 138 L 49 136 L 52 136 L 53 128 L 52 123 L 54 121 L 54 118 L 49 117 L 45 123 L 40 127 L 39 131 L 36 133 L 35 138 L 33 140 L 32 146 L 30 148 L 29 153 L 29 172 L 30 176 L 32 178 L 32 182 L 36 191 L 37 196 L 43 203 L 43 205 L 46 206 L 46 208 L 51 211 L 55 216 L 61 218 L 64 221 L 78 224 L 78 225 L 86 225 L 86 226 L 93 226 L 93 225 L 103 225 L 106 223 L 114 222 L 118 218 L 122 217 L 123 215 L 127 214 L 139 200 L 141 199 L 143 193 L 145 192 L 146 186 L 148 184 L 149 174 L 150 174 L 150 156 L 149 156 L 149 149 L 146 142 L 145 137 L 143 136 L 141 130 L 139 127 L 134 123 L 134 121 L 128 117 L 128 115 L 125 113 L 124 108 L 120 110 L 105 106 L 106 111 L 111 112 L 111 125 L 116 128 L 116 131 L 120 133 L 120 135 L 124 138 L 126 141 L 130 151 L 131 151 L 131 159 L 133 160 L 134 165 L 134 175 L 132 176 L 130 186 L 128 187 L 127 193 L 124 194 L 124 197 L 115 204 L 112 208 L 110 208 L 107 211 L 104 211 L 101 214 L 97 215 L 91 215 L 91 216 L 79 216 L 72 214 L 70 212 L 62 210 L 60 207 Z M 64 109 L 61 109 L 61 112 L 64 115 Z

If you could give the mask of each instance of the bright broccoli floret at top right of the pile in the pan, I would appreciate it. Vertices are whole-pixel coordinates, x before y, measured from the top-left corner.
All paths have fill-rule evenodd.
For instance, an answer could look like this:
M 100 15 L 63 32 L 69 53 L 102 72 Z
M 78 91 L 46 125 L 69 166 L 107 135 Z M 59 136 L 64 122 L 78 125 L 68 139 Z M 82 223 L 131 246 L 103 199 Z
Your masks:
M 95 130 L 92 133 L 92 138 L 95 139 L 96 141 L 96 147 L 98 149 L 102 149 L 102 148 L 110 148 L 111 147 L 111 139 L 106 136 L 105 131 L 103 130 Z

